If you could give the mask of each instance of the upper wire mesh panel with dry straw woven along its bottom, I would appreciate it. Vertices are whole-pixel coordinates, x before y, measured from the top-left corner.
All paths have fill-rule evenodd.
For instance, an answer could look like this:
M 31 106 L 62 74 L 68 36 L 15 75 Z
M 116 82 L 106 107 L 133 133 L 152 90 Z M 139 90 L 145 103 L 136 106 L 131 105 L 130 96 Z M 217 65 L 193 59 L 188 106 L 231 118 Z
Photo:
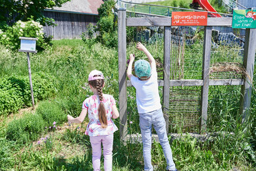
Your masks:
M 230 30 L 222 33 L 213 32 L 213 46 L 211 48 L 211 79 L 242 78 L 245 74 L 243 68 L 243 30 Z

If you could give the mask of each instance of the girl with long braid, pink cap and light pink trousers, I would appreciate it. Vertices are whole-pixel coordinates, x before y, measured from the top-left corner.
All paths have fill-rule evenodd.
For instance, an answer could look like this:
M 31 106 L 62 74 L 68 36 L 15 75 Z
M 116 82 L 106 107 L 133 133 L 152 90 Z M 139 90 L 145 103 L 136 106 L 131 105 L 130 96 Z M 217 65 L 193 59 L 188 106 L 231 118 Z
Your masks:
M 80 116 L 73 118 L 68 115 L 68 122 L 81 123 L 88 112 L 90 122 L 86 128 L 86 135 L 90 136 L 93 170 L 100 170 L 101 167 L 102 142 L 104 168 L 105 171 L 109 171 L 112 170 L 113 133 L 118 130 L 111 118 L 118 118 L 119 112 L 113 96 L 102 93 L 105 85 L 102 72 L 91 71 L 88 81 L 93 95 L 84 101 Z

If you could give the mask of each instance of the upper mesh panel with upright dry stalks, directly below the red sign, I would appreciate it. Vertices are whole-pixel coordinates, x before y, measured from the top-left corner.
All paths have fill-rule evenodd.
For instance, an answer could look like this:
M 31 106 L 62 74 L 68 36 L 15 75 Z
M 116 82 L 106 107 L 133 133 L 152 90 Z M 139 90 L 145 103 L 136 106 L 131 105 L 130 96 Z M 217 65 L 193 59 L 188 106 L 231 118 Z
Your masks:
M 199 27 L 172 26 L 170 79 L 201 79 L 203 42 Z

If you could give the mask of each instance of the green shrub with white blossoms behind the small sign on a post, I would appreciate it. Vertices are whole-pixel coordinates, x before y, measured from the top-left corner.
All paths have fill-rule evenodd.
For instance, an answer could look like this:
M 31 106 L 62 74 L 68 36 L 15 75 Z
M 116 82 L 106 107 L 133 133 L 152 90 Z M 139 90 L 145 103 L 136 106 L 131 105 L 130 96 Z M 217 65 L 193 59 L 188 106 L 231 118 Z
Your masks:
M 0 30 L 0 44 L 5 45 L 9 49 L 18 50 L 20 48 L 19 37 L 35 37 L 36 49 L 42 51 L 49 47 L 51 37 L 43 34 L 43 26 L 39 22 L 30 19 L 27 22 L 18 21 L 13 26 L 9 26 L 5 32 Z

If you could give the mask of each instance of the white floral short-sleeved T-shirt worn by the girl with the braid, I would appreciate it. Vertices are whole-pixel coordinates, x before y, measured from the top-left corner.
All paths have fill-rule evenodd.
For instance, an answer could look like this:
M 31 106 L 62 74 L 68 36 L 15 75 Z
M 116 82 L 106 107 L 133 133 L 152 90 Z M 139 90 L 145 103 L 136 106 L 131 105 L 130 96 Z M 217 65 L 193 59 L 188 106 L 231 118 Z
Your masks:
M 113 120 L 111 119 L 113 116 L 112 106 L 116 105 L 114 97 L 112 95 L 103 94 L 103 104 L 105 105 L 105 110 L 107 114 L 107 128 L 101 128 L 101 122 L 99 122 L 99 96 L 92 95 L 83 102 L 82 109 L 88 110 L 88 117 L 90 119 L 90 122 L 86 128 L 86 135 L 110 135 L 118 130 Z

